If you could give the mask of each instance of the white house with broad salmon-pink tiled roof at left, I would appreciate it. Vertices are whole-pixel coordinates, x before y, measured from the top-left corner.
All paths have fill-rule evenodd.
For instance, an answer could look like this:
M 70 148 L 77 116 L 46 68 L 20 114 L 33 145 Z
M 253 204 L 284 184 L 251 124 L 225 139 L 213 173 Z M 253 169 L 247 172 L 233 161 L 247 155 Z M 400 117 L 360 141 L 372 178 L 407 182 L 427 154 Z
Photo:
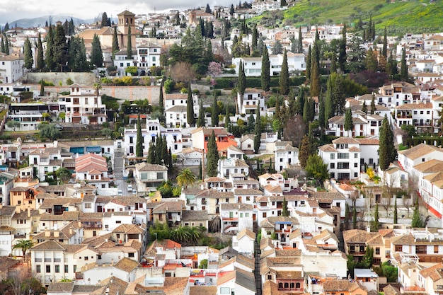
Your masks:
M 75 178 L 97 188 L 109 188 L 108 165 L 106 159 L 96 154 L 86 154 L 76 158 Z

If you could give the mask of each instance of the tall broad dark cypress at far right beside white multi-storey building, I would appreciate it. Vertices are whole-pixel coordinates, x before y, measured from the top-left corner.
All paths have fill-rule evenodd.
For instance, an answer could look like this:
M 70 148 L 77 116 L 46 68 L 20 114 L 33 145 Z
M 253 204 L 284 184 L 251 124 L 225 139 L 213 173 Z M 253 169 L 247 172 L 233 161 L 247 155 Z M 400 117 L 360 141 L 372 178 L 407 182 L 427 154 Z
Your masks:
M 389 168 L 389 164 L 396 160 L 397 150 L 393 144 L 393 132 L 388 117 L 381 122 L 379 135 L 379 166 L 381 170 Z

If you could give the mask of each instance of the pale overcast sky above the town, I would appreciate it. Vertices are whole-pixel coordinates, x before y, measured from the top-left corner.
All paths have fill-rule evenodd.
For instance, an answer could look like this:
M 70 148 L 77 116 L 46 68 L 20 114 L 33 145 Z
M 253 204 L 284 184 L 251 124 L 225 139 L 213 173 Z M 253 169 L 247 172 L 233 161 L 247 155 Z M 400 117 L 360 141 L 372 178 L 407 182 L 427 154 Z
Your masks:
M 127 9 L 135 14 L 167 11 L 169 9 L 185 9 L 198 6 L 224 5 L 238 3 L 234 0 L 0 0 L 0 23 L 16 21 L 21 18 L 40 16 L 74 16 L 90 19 L 106 11 L 108 17 L 116 17 Z M 244 2 L 244 1 L 243 1 Z

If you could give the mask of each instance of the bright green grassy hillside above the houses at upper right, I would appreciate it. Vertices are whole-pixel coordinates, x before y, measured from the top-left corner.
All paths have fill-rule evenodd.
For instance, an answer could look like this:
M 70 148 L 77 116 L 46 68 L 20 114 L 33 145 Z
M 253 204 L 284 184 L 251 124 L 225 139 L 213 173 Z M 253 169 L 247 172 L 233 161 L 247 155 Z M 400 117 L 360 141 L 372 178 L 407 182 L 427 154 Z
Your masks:
M 442 31 L 443 1 L 406 0 L 301 0 L 285 11 L 268 11 L 252 19 L 253 23 L 277 25 L 323 25 L 328 23 L 376 22 L 386 25 L 390 34 Z

